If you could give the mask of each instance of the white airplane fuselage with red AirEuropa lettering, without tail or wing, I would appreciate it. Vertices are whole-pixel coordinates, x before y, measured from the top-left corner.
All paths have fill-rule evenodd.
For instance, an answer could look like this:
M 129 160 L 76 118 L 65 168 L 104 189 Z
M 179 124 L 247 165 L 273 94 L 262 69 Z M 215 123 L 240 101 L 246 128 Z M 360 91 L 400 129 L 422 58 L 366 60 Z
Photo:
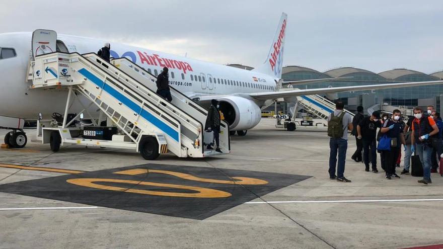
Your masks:
M 31 36 L 31 32 L 0 34 L 0 47 L 14 48 L 17 54 L 0 59 L 0 116 L 35 120 L 38 113 L 47 116 L 64 110 L 66 91 L 29 89 L 26 72 L 31 57 Z M 60 34 L 57 41 L 65 47 L 64 52 L 81 54 L 97 52 L 105 42 Z M 271 92 L 275 90 L 278 80 L 259 72 L 124 44 L 111 43 L 111 56 L 126 57 L 155 76 L 163 67 L 168 67 L 170 85 L 191 98 Z M 81 107 L 76 105 L 73 104 L 72 110 L 80 111 Z

